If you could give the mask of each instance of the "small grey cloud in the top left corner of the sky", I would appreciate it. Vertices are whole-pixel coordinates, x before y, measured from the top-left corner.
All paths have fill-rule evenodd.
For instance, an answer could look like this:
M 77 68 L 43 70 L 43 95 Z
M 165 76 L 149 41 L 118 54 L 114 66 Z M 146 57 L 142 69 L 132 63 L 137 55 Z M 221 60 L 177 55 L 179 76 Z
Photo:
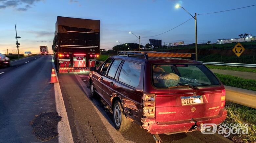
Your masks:
M 4 8 L 16 8 L 17 11 L 27 11 L 34 6 L 34 3 L 42 0 L 0 0 L 0 9 Z

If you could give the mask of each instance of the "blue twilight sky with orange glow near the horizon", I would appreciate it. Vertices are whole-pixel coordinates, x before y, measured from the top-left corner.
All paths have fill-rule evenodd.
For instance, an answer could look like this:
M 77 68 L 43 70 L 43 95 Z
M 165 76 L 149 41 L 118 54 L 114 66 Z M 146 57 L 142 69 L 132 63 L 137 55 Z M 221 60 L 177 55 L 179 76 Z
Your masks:
M 52 53 L 52 43 L 57 16 L 99 19 L 100 48 L 112 49 L 116 40 L 134 42 L 137 38 L 129 34 L 148 37 L 165 32 L 185 22 L 191 16 L 183 9 L 175 8 L 179 3 L 194 15 L 240 8 L 256 4 L 255 0 L 0 0 L 0 53 L 15 53 L 15 27 L 20 51 L 39 53 L 39 46 L 46 45 Z M 145 45 L 149 39 L 161 39 L 170 43 L 195 41 L 194 19 L 165 34 L 141 38 Z M 198 42 L 217 39 L 238 38 L 239 34 L 256 36 L 256 6 L 227 12 L 198 15 Z M 139 40 L 136 41 L 139 43 Z

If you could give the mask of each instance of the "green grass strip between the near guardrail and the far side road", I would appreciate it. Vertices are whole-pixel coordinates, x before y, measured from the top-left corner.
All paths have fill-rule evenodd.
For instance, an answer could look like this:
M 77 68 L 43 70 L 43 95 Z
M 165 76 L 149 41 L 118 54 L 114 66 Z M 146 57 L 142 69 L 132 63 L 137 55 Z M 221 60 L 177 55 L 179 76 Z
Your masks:
M 237 76 L 232 75 L 224 75 L 219 73 L 214 73 L 221 82 L 230 87 L 237 87 L 237 88 L 243 88 L 248 90 L 256 91 L 256 80 L 252 79 L 243 79 Z

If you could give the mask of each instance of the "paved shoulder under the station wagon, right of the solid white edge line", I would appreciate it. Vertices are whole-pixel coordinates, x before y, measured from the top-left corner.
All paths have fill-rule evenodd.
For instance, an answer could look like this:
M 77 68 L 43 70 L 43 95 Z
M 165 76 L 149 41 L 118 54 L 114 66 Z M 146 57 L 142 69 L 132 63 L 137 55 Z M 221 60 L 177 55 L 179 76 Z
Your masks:
M 86 75 L 59 74 L 60 87 L 67 109 L 74 142 L 137 142 L 154 143 L 153 136 L 133 124 L 127 132 L 120 133 L 113 126 L 112 111 L 99 97 L 89 98 Z M 167 142 L 231 142 L 222 135 L 205 135 L 199 131 L 174 135 L 161 134 Z

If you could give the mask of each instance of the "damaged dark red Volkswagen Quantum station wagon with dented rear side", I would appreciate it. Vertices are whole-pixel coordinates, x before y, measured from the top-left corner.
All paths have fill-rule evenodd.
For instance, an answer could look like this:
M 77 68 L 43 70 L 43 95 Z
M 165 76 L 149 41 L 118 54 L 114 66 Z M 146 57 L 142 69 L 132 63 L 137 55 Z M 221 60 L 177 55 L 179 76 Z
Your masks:
M 113 110 L 118 131 L 140 125 L 158 134 L 192 132 L 226 118 L 225 89 L 201 62 L 174 57 L 191 53 L 121 52 L 90 69 L 91 94 Z

